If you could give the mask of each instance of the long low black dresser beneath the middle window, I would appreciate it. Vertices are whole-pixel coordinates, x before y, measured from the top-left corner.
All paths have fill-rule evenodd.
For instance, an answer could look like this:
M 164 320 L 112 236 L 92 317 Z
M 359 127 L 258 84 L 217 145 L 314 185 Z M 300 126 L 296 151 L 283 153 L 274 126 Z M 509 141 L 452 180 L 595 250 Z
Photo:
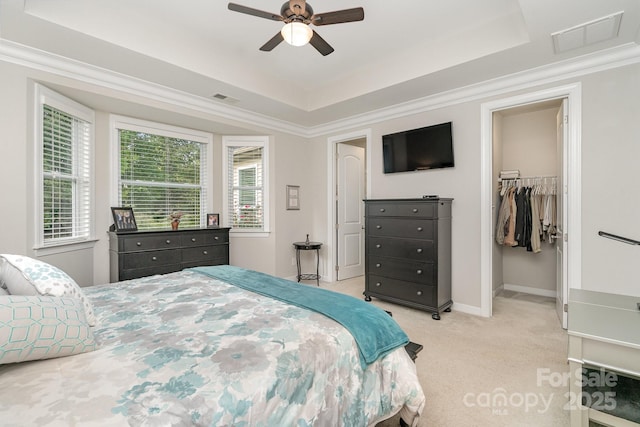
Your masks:
M 111 282 L 229 264 L 229 228 L 109 232 Z

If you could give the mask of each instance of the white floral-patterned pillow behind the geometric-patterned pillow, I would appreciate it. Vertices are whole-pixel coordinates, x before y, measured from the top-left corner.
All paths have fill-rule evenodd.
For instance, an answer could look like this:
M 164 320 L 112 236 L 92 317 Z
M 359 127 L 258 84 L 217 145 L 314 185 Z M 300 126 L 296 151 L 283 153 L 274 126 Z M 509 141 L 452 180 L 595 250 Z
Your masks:
M 90 326 L 95 326 L 93 306 L 67 273 L 37 259 L 22 255 L 0 255 L 0 283 L 11 295 L 75 297 L 82 301 Z

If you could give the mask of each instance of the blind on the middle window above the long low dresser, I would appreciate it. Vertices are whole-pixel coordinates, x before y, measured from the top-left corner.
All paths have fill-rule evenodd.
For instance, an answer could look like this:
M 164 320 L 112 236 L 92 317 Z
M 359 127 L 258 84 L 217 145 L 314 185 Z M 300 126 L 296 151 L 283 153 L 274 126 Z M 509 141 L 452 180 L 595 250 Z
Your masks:
M 119 129 L 122 206 L 133 208 L 139 230 L 166 229 L 172 212 L 180 226 L 202 224 L 206 201 L 206 144 Z

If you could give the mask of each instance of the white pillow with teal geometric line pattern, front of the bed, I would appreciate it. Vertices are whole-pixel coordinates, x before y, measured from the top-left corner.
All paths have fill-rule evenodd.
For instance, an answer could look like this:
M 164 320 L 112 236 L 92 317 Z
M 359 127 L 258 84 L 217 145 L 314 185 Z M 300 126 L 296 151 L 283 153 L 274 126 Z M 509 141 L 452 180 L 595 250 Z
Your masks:
M 95 349 L 93 331 L 78 298 L 0 296 L 0 364 Z

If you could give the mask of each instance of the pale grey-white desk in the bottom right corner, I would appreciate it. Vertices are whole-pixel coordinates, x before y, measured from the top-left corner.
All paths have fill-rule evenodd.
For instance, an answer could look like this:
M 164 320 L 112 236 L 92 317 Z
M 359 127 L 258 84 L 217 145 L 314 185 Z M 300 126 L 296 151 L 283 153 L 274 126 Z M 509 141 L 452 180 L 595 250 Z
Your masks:
M 605 426 L 640 426 L 638 423 L 602 412 L 597 408 L 582 406 L 583 366 L 604 368 L 609 372 L 634 378 L 638 380 L 638 387 L 640 387 L 638 302 L 640 297 L 579 289 L 570 290 L 568 335 L 569 366 L 572 378 L 568 404 L 572 409 L 571 427 L 587 427 L 589 420 Z M 620 399 L 621 396 L 608 395 L 598 403 L 605 409 L 609 409 Z

